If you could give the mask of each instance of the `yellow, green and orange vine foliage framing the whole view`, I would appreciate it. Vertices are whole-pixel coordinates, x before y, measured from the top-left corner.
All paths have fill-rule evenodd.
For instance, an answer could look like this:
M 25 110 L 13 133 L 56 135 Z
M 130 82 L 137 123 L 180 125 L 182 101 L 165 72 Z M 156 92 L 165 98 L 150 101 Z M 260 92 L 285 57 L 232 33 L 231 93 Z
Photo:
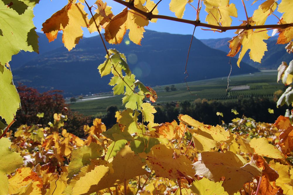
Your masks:
M 149 22 L 167 19 L 217 32 L 236 30 L 237 35 L 229 41 L 228 56 L 240 52 L 237 62 L 240 66 L 244 54 L 250 50 L 250 58 L 260 62 L 267 51 L 264 40 L 269 38 L 270 28 L 279 33 L 278 43 L 288 43 L 286 50 L 292 51 L 291 0 L 281 0 L 279 4 L 275 0 L 253 1 L 259 7 L 251 17 L 242 1 L 247 20 L 239 26 L 231 26 L 231 16 L 237 17 L 239 13 L 229 0 L 194 2 L 197 4 L 194 21 L 182 19 L 185 6 L 193 1 L 171 0 L 170 10 L 176 18 L 158 15 L 157 4 L 161 1 L 155 4 L 151 0 L 114 0 L 126 6 L 117 15 L 101 0 L 94 6 L 86 0 L 68 1 L 43 23 L 42 31 L 49 41 L 54 41 L 62 31 L 68 50 L 82 38 L 82 27 L 87 27 L 89 32 L 98 31 L 105 47 L 105 61 L 98 70 L 101 77 L 112 76 L 109 85 L 113 86 L 113 94 L 123 94 L 122 103 L 126 107 L 116 112 L 117 123 L 111 128 L 107 129 L 100 119 L 95 119 L 92 126 L 85 124 L 86 139 L 67 131 L 66 121 L 70 118 L 61 108 L 63 101 L 54 103 L 60 99 L 58 94 L 49 93 L 50 98 L 46 100 L 43 94 L 35 96 L 35 91 L 25 89 L 19 90 L 28 97 L 22 100 L 24 118 L 33 117 L 29 109 L 35 106 L 35 101 L 43 101 L 43 106 L 53 105 L 61 111 L 45 116 L 52 117 L 47 124 L 38 125 L 44 115 L 35 113 L 37 122 L 27 117 L 15 132 L 9 130 L 18 115 L 21 99 L 8 62 L 20 49 L 38 52 L 38 37 L 32 22 L 33 7 L 38 0 L 12 1 L 8 5 L 0 1 L 0 42 L 4 45 L 0 47 L 0 116 L 3 119 L 0 121 L 3 132 L 0 195 L 293 194 L 293 117 L 289 110 L 274 125 L 243 116 L 222 126 L 212 126 L 184 114 L 178 116 L 178 122 L 157 124 L 156 109 L 151 103 L 144 103 L 146 98 L 155 102 L 156 92 L 135 79 L 123 53 L 107 49 L 104 43 L 104 39 L 111 44 L 121 43 L 129 30 L 129 39 L 140 44 Z M 200 22 L 202 6 L 207 12 L 207 23 Z M 283 13 L 278 24 L 265 25 L 276 10 Z M 100 33 L 102 28 L 104 37 Z M 292 66 L 292 61 L 280 65 L 278 81 L 285 85 L 292 83 Z M 277 105 L 291 105 L 292 94 L 292 88 L 288 87 Z M 36 112 L 42 109 L 36 107 Z M 35 123 L 25 125 L 28 121 Z

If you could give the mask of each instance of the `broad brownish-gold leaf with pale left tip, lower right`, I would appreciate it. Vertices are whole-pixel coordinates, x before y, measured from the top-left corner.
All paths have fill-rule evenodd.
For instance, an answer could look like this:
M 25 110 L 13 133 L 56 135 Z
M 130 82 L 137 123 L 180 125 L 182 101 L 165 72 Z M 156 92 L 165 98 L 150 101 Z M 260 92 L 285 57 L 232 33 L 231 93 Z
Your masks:
M 231 151 L 225 153 L 202 152 L 193 164 L 196 175 L 204 175 L 209 180 L 220 182 L 228 194 L 236 193 L 243 184 L 261 176 L 261 170 L 253 163 L 244 164 Z

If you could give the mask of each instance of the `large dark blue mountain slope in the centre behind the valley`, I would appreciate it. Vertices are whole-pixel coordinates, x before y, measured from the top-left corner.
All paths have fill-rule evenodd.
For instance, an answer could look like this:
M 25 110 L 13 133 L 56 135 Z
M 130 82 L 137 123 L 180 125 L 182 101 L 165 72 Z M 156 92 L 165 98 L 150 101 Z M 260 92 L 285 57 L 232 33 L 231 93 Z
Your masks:
M 59 39 L 61 34 L 58 35 Z M 46 38 L 40 34 L 40 39 Z M 169 34 L 147 30 L 142 46 L 126 38 L 120 45 L 107 44 L 127 56 L 131 70 L 146 85 L 156 86 L 184 82 L 185 61 L 190 35 Z M 41 42 L 42 43 L 42 42 Z M 49 48 L 47 42 L 43 42 Z M 59 44 L 59 42 L 57 43 Z M 19 54 L 18 54 L 19 55 Z M 100 37 L 84 38 L 71 50 L 62 47 L 41 53 L 13 69 L 15 82 L 22 82 L 40 91 L 64 90 L 65 96 L 110 91 L 110 77 L 100 78 L 98 65 L 105 60 L 105 50 Z M 187 70 L 188 81 L 227 76 L 229 57 L 223 51 L 211 49 L 198 39 L 193 40 Z M 243 63 L 241 68 L 232 59 L 232 75 L 258 72 Z

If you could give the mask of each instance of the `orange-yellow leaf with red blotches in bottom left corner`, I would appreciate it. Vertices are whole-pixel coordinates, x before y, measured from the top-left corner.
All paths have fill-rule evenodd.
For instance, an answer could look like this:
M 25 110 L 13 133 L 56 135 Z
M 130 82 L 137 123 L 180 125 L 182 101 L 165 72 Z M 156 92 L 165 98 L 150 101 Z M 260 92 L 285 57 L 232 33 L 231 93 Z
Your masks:
M 43 181 L 36 172 L 33 172 L 30 168 L 19 168 L 16 170 L 15 175 L 9 180 L 9 194 L 16 194 L 20 192 L 21 187 L 32 183 L 32 194 L 42 194 Z

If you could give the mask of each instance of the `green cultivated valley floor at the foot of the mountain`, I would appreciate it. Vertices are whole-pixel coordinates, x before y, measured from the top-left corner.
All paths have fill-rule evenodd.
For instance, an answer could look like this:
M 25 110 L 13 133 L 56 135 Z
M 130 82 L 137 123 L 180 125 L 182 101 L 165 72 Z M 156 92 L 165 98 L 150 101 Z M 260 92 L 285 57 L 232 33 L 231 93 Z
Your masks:
M 277 83 L 277 71 L 264 71 L 255 74 L 232 76 L 229 80 L 229 89 L 227 92 L 227 77 L 189 82 L 188 86 L 193 95 L 187 90 L 185 83 L 174 85 L 177 90 L 171 92 L 164 90 L 166 86 L 171 86 L 171 84 L 153 87 L 158 94 L 157 103 L 184 100 L 193 101 L 198 98 L 233 101 L 238 99 L 239 96 L 243 96 L 244 98 L 250 96 L 272 98 L 275 91 L 284 87 L 283 84 Z M 231 90 L 233 87 L 240 85 L 248 85 L 250 89 Z M 121 98 L 122 95 L 104 99 L 77 101 L 71 104 L 70 108 L 85 115 L 100 115 L 105 113 L 106 108 L 110 105 L 117 105 L 120 109 L 124 108 L 121 105 Z

